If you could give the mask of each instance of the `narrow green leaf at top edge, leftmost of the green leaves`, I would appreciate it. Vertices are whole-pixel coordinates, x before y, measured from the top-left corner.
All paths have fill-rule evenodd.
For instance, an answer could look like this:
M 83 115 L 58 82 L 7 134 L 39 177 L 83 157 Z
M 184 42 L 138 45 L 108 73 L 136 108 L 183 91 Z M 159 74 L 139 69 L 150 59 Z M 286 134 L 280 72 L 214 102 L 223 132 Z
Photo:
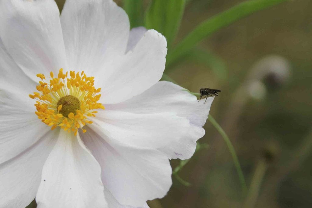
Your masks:
M 123 8 L 129 16 L 131 28 L 143 26 L 142 0 L 123 0 Z

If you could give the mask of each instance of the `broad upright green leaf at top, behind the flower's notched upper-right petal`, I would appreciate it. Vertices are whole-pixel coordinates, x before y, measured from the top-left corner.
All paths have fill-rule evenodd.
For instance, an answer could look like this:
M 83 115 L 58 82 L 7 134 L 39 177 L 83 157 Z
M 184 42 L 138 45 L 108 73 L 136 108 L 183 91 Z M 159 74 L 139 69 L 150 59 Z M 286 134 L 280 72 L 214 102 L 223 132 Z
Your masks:
M 145 27 L 162 33 L 172 45 L 185 7 L 185 0 L 152 0 L 145 16 Z

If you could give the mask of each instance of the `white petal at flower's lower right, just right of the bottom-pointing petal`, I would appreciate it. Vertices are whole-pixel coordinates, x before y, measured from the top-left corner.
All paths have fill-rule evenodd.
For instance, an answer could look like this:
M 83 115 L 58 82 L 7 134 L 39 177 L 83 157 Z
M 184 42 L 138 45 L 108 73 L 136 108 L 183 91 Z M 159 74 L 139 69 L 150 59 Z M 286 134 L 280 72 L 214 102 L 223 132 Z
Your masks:
M 166 195 L 172 170 L 163 153 L 125 145 L 106 136 L 97 125 L 90 128 L 81 137 L 102 168 L 105 188 L 120 204 L 140 207 Z

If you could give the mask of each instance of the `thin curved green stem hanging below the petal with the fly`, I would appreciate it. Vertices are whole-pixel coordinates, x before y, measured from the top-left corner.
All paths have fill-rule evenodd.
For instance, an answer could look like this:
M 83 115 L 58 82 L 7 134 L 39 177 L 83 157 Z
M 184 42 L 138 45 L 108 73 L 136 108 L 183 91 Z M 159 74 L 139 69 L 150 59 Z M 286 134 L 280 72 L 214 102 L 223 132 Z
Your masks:
M 227 144 L 227 148 L 229 149 L 233 161 L 234 161 L 234 165 L 236 167 L 236 171 L 238 173 L 238 177 L 239 177 L 239 181 L 241 182 L 241 187 L 243 190 L 243 194 L 246 193 L 247 191 L 247 186 L 246 186 L 246 182 L 245 182 L 245 178 L 244 178 L 244 174 L 243 171 L 241 170 L 241 165 L 238 161 L 238 157 L 236 155 L 235 149 L 229 139 L 229 137 L 227 136 L 227 134 L 223 131 L 223 129 L 221 128 L 221 126 L 217 123 L 217 121 L 211 116 L 208 116 L 208 120 L 210 121 L 210 123 L 212 123 L 212 125 L 217 129 L 217 131 L 221 134 L 224 142 Z

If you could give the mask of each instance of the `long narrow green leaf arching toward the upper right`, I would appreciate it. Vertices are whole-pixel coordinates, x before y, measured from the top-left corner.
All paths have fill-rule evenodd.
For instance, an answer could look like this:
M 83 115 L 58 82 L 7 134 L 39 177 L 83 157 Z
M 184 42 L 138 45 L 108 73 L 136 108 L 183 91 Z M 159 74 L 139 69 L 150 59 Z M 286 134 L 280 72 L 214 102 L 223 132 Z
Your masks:
M 222 27 L 246 17 L 256 11 L 274 6 L 287 0 L 250 0 L 242 2 L 225 12 L 221 12 L 216 16 L 200 23 L 193 31 L 191 31 L 171 52 L 167 55 L 166 66 L 172 65 L 181 56 L 185 55 L 203 38 L 218 31 Z

